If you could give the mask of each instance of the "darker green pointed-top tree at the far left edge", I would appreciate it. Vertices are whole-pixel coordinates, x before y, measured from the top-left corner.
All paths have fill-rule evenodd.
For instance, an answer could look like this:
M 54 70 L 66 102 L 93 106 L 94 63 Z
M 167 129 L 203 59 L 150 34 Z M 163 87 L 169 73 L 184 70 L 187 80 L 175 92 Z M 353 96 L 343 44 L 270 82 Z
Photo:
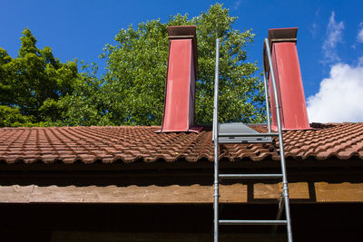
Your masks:
M 62 111 L 57 102 L 74 91 L 77 63 L 61 63 L 50 47 L 38 49 L 27 28 L 20 39 L 21 48 L 15 59 L 0 48 L 0 105 L 13 109 L 3 107 L 19 118 L 19 125 L 21 121 L 56 121 Z M 0 116 L 0 120 L 5 119 Z

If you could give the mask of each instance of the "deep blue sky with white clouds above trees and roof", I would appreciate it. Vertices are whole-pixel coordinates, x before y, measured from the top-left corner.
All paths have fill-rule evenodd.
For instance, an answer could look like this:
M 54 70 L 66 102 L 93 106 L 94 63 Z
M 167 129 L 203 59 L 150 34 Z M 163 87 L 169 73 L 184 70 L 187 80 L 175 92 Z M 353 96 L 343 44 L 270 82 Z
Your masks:
M 298 27 L 298 52 L 310 121 L 363 121 L 363 1 L 5 1 L 0 0 L 0 46 L 15 57 L 25 27 L 38 47 L 51 46 L 62 62 L 99 63 L 118 30 L 170 15 L 191 17 L 222 3 L 253 29 L 250 62 L 261 63 L 269 28 Z

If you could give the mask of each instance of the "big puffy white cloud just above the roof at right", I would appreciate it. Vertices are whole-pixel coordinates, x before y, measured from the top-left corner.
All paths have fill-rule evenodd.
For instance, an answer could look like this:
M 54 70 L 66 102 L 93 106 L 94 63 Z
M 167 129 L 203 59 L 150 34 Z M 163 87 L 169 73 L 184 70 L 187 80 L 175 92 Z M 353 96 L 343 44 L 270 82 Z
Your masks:
M 310 122 L 363 121 L 363 56 L 358 66 L 337 63 L 308 98 Z

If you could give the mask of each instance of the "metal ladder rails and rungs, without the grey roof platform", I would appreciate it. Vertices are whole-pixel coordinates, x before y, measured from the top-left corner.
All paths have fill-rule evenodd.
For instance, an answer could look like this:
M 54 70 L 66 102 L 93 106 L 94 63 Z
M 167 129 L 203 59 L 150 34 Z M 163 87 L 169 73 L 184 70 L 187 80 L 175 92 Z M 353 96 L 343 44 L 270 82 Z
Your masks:
M 214 73 L 214 103 L 213 103 L 213 126 L 212 126 L 212 140 L 214 141 L 214 201 L 213 201 L 213 208 L 214 208 L 214 242 L 218 242 L 219 240 L 219 225 L 220 224 L 270 224 L 270 225 L 280 225 L 284 224 L 287 226 L 287 234 L 288 234 L 288 241 L 292 242 L 292 231 L 291 231 L 291 220 L 289 215 L 289 188 L 288 188 L 288 179 L 286 173 L 286 161 L 285 161 L 285 151 L 283 145 L 283 135 L 282 135 L 282 125 L 281 125 L 281 117 L 280 117 L 280 102 L 279 102 L 279 92 L 277 89 L 277 84 L 275 80 L 275 73 L 273 70 L 271 53 L 270 53 L 270 45 L 269 40 L 266 38 L 264 41 L 264 48 L 263 48 L 263 81 L 265 86 L 265 98 L 266 98 L 266 111 L 267 111 L 267 119 L 268 119 L 268 133 L 261 133 L 261 134 L 253 134 L 252 137 L 260 137 L 260 136 L 268 136 L 268 137 L 279 137 L 279 144 L 280 144 L 280 165 L 281 165 L 281 174 L 270 174 L 270 175 L 251 175 L 251 174 L 219 174 L 219 137 L 250 137 L 251 135 L 239 134 L 236 135 L 234 133 L 225 133 L 220 135 L 219 134 L 219 121 L 218 121 L 218 100 L 219 100 L 219 59 L 220 59 L 220 39 L 216 39 L 216 61 L 215 61 L 215 73 Z M 267 53 L 267 55 L 265 54 Z M 273 94 L 274 94 L 274 101 L 276 104 L 276 118 L 278 124 L 278 132 L 271 133 L 271 124 L 270 124 L 270 105 L 269 105 L 269 97 L 267 91 L 267 78 L 266 78 L 266 56 L 268 57 L 268 63 L 270 67 L 270 81 L 272 82 Z M 248 179 L 248 178 L 282 178 L 282 199 L 283 205 L 280 206 L 278 217 L 276 220 L 226 220 L 226 219 L 219 219 L 219 179 Z M 283 207 L 285 209 L 286 220 L 279 220 L 280 213 Z

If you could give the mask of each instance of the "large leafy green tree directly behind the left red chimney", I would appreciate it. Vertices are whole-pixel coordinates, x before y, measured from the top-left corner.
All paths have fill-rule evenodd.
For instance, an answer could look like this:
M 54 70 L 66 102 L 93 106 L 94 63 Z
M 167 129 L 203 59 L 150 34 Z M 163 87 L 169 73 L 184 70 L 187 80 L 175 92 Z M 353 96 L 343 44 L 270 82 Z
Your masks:
M 116 44 L 107 44 L 104 89 L 109 93 L 109 110 L 114 124 L 161 124 L 166 79 L 167 26 L 197 26 L 199 73 L 196 83 L 196 121 L 211 123 L 215 40 L 221 38 L 221 121 L 260 122 L 264 118 L 262 85 L 253 74 L 256 63 L 246 63 L 245 47 L 253 42 L 250 30 L 233 29 L 236 17 L 222 5 L 211 5 L 206 13 L 188 18 L 175 15 L 122 29 Z

